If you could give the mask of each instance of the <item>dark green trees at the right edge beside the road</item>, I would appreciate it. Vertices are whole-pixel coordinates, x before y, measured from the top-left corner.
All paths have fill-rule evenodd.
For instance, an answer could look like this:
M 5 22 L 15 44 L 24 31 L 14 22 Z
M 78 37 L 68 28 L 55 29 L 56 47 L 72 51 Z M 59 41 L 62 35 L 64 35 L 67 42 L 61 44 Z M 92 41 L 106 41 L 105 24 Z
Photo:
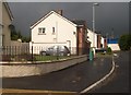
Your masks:
M 131 34 L 121 35 L 118 44 L 121 50 L 130 50 L 131 49 Z

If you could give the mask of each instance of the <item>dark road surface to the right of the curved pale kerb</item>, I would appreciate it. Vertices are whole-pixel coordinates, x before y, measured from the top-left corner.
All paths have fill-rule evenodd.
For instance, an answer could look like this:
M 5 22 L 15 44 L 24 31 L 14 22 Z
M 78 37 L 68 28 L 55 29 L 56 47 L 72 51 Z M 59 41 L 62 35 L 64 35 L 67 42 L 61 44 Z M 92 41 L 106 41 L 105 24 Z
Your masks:
M 129 60 L 131 51 L 118 52 L 115 58 L 117 69 L 114 75 L 103 86 L 90 93 L 129 93 Z

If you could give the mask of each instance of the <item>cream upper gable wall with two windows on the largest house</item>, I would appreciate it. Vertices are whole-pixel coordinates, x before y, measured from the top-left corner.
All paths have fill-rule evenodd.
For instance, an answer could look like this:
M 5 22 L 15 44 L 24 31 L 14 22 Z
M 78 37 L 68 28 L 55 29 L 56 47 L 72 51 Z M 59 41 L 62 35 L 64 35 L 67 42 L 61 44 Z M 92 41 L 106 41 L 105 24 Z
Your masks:
M 45 33 L 43 33 L 43 31 L 45 31 Z M 35 43 L 63 43 L 75 37 L 74 32 L 76 33 L 75 24 L 72 25 L 72 23 L 52 13 L 32 28 L 32 40 Z

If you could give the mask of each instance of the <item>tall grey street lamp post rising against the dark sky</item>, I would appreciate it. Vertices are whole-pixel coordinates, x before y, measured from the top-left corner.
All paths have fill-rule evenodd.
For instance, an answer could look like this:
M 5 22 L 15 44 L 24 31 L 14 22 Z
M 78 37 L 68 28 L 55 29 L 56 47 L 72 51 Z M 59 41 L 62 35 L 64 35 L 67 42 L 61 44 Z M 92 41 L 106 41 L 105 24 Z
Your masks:
M 99 5 L 99 3 L 93 3 L 93 50 L 94 50 L 94 57 L 95 57 L 95 7 Z

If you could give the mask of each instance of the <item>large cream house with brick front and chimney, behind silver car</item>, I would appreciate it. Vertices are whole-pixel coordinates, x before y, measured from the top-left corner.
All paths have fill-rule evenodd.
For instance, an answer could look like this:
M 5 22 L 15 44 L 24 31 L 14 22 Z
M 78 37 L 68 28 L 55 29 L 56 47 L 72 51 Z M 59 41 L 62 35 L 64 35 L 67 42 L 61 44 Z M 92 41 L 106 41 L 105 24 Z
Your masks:
M 79 51 L 79 47 L 85 47 L 86 38 L 80 35 L 85 33 L 84 31 L 86 31 L 84 25 L 78 25 L 63 17 L 62 10 L 57 12 L 50 11 L 31 26 L 31 46 L 38 47 L 38 49 L 34 48 L 34 54 L 39 54 L 39 50 L 46 49 L 49 46 L 66 45 L 71 50 L 71 54 L 75 55 Z

